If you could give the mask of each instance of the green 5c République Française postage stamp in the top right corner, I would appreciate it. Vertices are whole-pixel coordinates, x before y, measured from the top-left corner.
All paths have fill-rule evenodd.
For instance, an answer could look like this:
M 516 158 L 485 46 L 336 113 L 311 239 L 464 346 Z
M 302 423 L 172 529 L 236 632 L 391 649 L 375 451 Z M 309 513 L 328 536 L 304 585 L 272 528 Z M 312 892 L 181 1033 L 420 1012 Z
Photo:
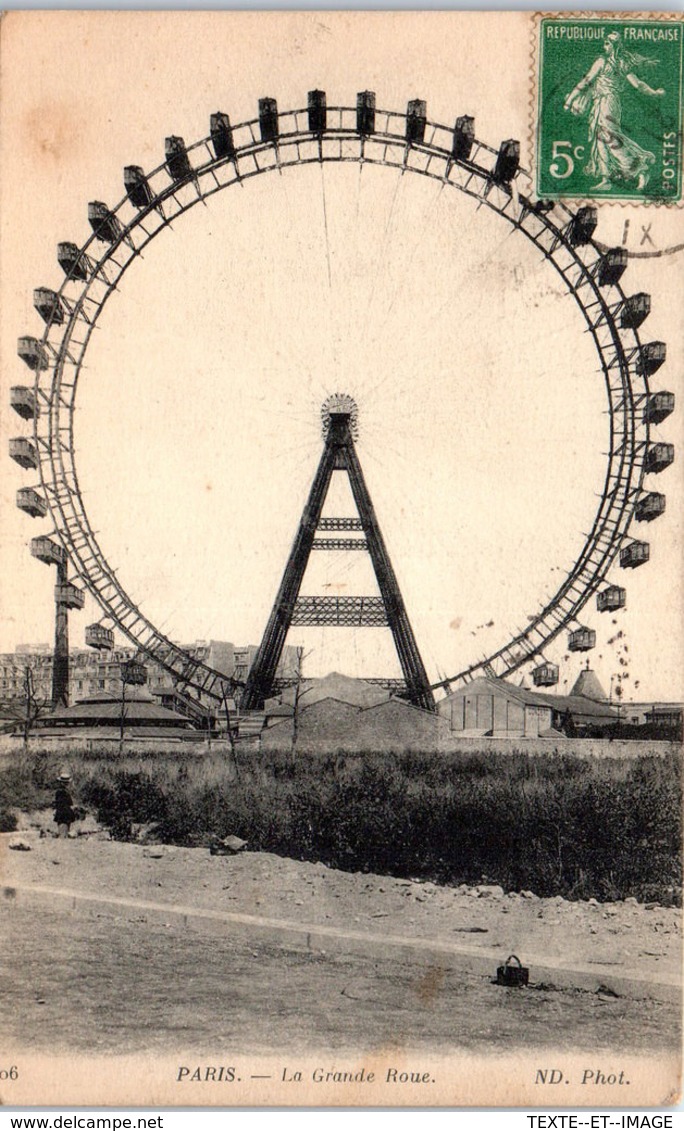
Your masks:
M 542 18 L 537 192 L 682 198 L 682 40 L 665 19 Z

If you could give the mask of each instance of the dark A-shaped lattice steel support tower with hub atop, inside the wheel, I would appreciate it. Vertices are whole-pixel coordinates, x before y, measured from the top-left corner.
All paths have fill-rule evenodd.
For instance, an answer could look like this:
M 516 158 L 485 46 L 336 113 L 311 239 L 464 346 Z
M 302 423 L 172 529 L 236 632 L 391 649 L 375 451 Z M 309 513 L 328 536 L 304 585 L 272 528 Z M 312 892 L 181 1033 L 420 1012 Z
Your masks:
M 357 408 L 348 396 L 328 397 L 321 409 L 323 454 L 318 466 L 263 639 L 250 670 L 241 706 L 259 710 L 274 693 L 274 681 L 285 638 L 292 624 L 376 628 L 388 625 L 401 664 L 404 698 L 434 710 L 434 699 L 410 627 L 399 585 L 380 533 L 354 440 Z M 346 472 L 357 518 L 322 518 L 332 472 Z M 317 538 L 315 534 L 334 537 Z M 354 537 L 360 532 L 363 537 Z M 380 597 L 300 597 L 312 550 L 365 551 L 372 562 Z

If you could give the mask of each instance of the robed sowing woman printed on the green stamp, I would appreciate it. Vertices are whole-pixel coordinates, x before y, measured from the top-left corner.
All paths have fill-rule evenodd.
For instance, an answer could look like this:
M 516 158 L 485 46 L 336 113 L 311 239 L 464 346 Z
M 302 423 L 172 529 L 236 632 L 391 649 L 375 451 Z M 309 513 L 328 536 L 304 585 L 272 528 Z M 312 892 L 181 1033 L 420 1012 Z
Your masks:
M 600 178 L 595 190 L 609 189 L 613 180 L 637 181 L 641 192 L 650 175 L 656 156 L 642 149 L 622 128 L 622 93 L 626 84 L 640 94 L 660 97 L 665 90 L 653 89 L 634 75 L 641 66 L 656 66 L 657 59 L 627 51 L 618 32 L 606 36 L 604 54 L 570 92 L 564 109 L 573 114 L 589 112 L 589 162 L 586 172 Z

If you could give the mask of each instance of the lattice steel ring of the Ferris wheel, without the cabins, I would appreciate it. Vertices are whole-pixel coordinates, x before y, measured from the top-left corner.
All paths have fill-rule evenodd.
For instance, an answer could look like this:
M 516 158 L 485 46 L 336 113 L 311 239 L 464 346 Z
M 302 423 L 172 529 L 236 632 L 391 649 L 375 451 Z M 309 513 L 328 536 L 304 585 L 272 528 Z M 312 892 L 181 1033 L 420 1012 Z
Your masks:
M 55 339 L 59 338 L 58 348 L 54 347 L 55 343 L 51 340 L 51 331 L 55 326 L 54 321 L 50 320 L 45 326 L 41 344 L 49 349 L 50 357 L 53 361 L 53 364 L 49 365 L 49 372 L 51 373 L 50 394 L 45 395 L 45 390 L 41 387 L 42 374 L 44 372 L 41 366 L 36 370 L 34 389 L 36 402 L 40 400 L 41 405 L 46 403 L 47 406 L 49 434 L 47 437 L 40 434 L 42 414 L 38 414 L 34 418 L 34 439 L 36 451 L 38 452 L 41 484 L 54 521 L 54 533 L 62 542 L 72 566 L 76 567 L 76 576 L 93 594 L 105 616 L 111 619 L 113 623 L 116 623 L 138 647 L 142 648 L 147 654 L 153 655 L 164 666 L 179 675 L 182 681 L 193 687 L 201 684 L 201 690 L 207 691 L 209 694 L 215 693 L 217 688 L 222 688 L 231 681 L 223 676 L 223 684 L 220 682 L 217 683 L 217 677 L 220 673 L 216 673 L 214 670 L 207 667 L 207 665 L 198 663 L 188 653 L 173 645 L 171 640 L 155 628 L 151 621 L 140 612 L 128 596 L 116 578 L 115 571 L 110 568 L 105 555 L 99 549 L 87 517 L 78 482 L 73 447 L 73 408 L 78 380 L 93 329 L 97 325 L 102 310 L 115 290 L 119 279 L 131 264 L 136 261 L 140 251 L 153 239 L 156 239 L 161 232 L 171 226 L 172 218 L 184 215 L 185 211 L 200 201 L 206 201 L 206 199 L 216 192 L 223 191 L 233 184 L 242 183 L 252 176 L 275 170 L 283 171 L 308 164 L 339 163 L 344 161 L 356 164 L 380 165 L 392 170 L 400 169 L 402 172 L 407 171 L 431 176 L 445 184 L 451 184 L 466 196 L 486 205 L 510 223 L 513 228 L 517 228 L 533 242 L 537 243 L 544 251 L 545 258 L 555 267 L 569 285 L 569 291 L 579 305 L 591 331 L 606 383 L 611 422 L 611 451 L 608 452 L 606 477 L 591 532 L 587 536 L 582 551 L 577 556 L 574 564 L 568 570 L 564 582 L 547 604 L 534 618 L 529 619 L 530 623 L 528 627 L 492 655 L 484 657 L 452 677 L 434 683 L 434 689 L 448 689 L 459 682 L 466 682 L 475 677 L 478 672 L 485 673 L 490 668 L 493 668 L 494 664 L 499 664 L 499 670 L 495 670 L 495 674 L 510 674 L 512 671 L 525 666 L 539 656 L 543 648 L 551 640 L 570 624 L 577 622 L 579 612 L 592 593 L 598 589 L 617 554 L 621 543 L 627 535 L 634 507 L 642 489 L 644 452 L 648 449 L 649 441 L 649 424 L 648 421 L 638 421 L 637 407 L 644 398 L 648 398 L 649 382 L 647 373 L 637 372 L 635 359 L 638 360 L 640 356 L 641 343 L 637 329 L 631 328 L 629 331 L 624 329 L 622 331 L 629 334 L 630 346 L 625 347 L 623 344 L 615 313 L 625 301 L 625 295 L 620 284 L 612 284 L 614 295 L 612 302 L 613 312 L 611 311 L 611 304 L 604 299 L 599 290 L 595 275 L 603 254 L 600 248 L 592 239 L 589 239 L 581 248 L 573 248 L 563 234 L 563 224 L 566 225 L 577 214 L 562 201 L 555 201 L 552 210 L 559 219 L 554 224 L 549 218 L 551 213 L 536 210 L 530 197 L 520 192 L 520 185 L 525 182 L 527 175 L 523 170 L 519 170 L 510 183 L 496 182 L 493 176 L 493 158 L 496 157 L 497 150 L 484 143 L 475 140 L 475 156 L 471 159 L 456 158 L 450 155 L 447 147 L 436 145 L 434 140 L 435 137 L 442 140 L 442 135 L 450 135 L 451 131 L 448 127 L 427 122 L 432 140 L 407 144 L 406 137 L 400 129 L 397 131 L 389 129 L 393 122 L 406 126 L 407 114 L 396 111 L 376 111 L 375 113 L 380 118 L 386 118 L 387 128 L 382 130 L 376 127 L 372 135 L 360 136 L 358 131 L 352 124 L 340 124 L 337 131 L 330 128 L 326 130 L 324 135 L 317 135 L 311 129 L 300 126 L 300 119 L 306 115 L 306 110 L 295 110 L 277 113 L 278 123 L 294 123 L 294 129 L 279 132 L 276 141 L 263 141 L 257 137 L 256 127 L 259 124 L 259 119 L 252 119 L 233 127 L 234 135 L 239 135 L 240 131 L 246 131 L 251 138 L 242 147 L 239 146 L 236 148 L 234 157 L 211 157 L 211 135 L 191 146 L 184 147 L 184 153 L 188 157 L 201 150 L 208 154 L 208 159 L 204 164 L 192 166 L 191 173 L 181 180 L 172 178 L 167 161 L 163 162 L 150 173 L 144 174 L 148 184 L 156 183 L 163 176 L 166 176 L 167 183 L 162 184 L 161 189 L 150 196 L 149 204 L 142 209 L 135 208 L 129 195 L 124 195 L 115 208 L 109 211 L 109 215 L 121 225 L 121 233 L 115 241 L 106 243 L 104 253 L 88 268 L 86 278 L 83 279 L 83 287 L 79 288 L 79 295 L 76 300 L 72 295 L 73 284 L 78 283 L 78 279 L 73 277 L 73 269 L 66 276 L 59 292 L 57 292 L 59 300 L 69 310 L 69 318 L 61 334 L 58 333 L 55 335 Z M 355 110 L 345 106 L 328 107 L 328 114 L 339 115 L 339 122 L 343 123 L 345 115 L 355 114 Z M 327 152 L 323 148 L 323 143 L 328 146 Z M 330 148 L 330 143 L 332 146 L 336 144 L 339 146 L 338 155 L 335 155 Z M 343 145 L 347 146 L 346 150 L 343 150 Z M 304 155 L 301 148 L 303 146 L 309 147 Z M 311 146 L 314 149 L 318 148 L 318 153 L 311 152 Z M 348 148 L 349 146 L 357 147 L 357 149 Z M 375 152 L 376 147 L 383 147 L 381 155 Z M 294 148 L 296 155 L 293 159 L 287 159 L 289 157 L 289 149 L 292 148 Z M 285 159 L 283 157 L 284 154 L 286 154 Z M 274 159 L 260 166 L 260 155 L 272 156 Z M 424 165 L 412 164 L 412 159 L 416 155 L 421 155 L 421 161 L 425 163 Z M 486 165 L 479 165 L 475 161 L 475 157 L 483 159 L 483 155 L 484 159 L 488 162 Z M 251 158 L 253 167 L 243 170 L 239 174 L 239 162 L 243 158 Z M 439 172 L 439 162 L 443 165 L 441 173 Z M 433 164 L 432 170 L 431 163 Z M 435 164 L 438 164 L 436 172 L 434 171 Z M 235 175 L 220 182 L 217 174 L 227 166 L 234 167 Z M 452 179 L 454 171 L 458 171 L 461 180 Z M 200 190 L 200 179 L 202 178 L 213 178 L 213 181 L 209 180 L 209 187 L 205 191 Z M 475 189 L 471 188 L 474 183 L 476 185 Z M 191 187 L 196 189 L 194 197 L 191 195 Z M 190 199 L 181 202 L 178 193 L 188 188 L 191 188 Z M 166 217 L 164 207 L 173 208 L 172 201 L 175 202 L 176 210 L 173 213 L 173 216 Z M 510 209 L 510 214 L 508 209 Z M 121 216 L 125 217 L 129 214 L 131 218 L 123 223 Z M 161 217 L 159 222 L 157 222 L 157 216 Z M 145 223 L 147 223 L 147 227 L 145 227 Z M 534 225 L 536 234 L 535 227 L 530 227 L 528 231 L 523 226 L 525 224 Z M 133 239 L 133 233 L 139 233 L 139 231 L 142 232 L 144 239 L 140 239 L 139 243 L 137 243 Z M 544 241 L 547 239 L 551 242 L 548 248 L 545 248 Z M 77 262 L 81 260 L 87 262 L 89 252 L 94 248 L 98 248 L 102 242 L 102 238 L 97 231 L 94 231 L 92 236 L 78 248 Z M 130 251 L 128 258 L 127 249 Z M 554 258 L 557 251 L 562 251 L 569 260 L 565 267 L 562 267 Z M 570 271 L 577 273 L 575 285 L 569 282 L 568 275 Z M 588 287 L 589 293 L 594 297 L 591 304 L 585 303 L 582 296 L 579 294 L 580 288 L 585 286 Z M 89 293 L 92 288 L 95 288 L 96 293 L 97 288 L 99 288 L 99 299 L 92 297 Z M 588 310 L 591 307 L 597 309 L 590 316 Z M 597 314 L 598 318 L 596 318 Z M 85 331 L 83 342 L 73 340 L 73 331 L 79 326 Z M 59 325 L 57 328 L 59 331 Z M 597 336 L 599 334 L 607 337 L 605 345 L 600 344 Z M 73 344 L 77 347 L 77 359 L 70 353 Z M 605 351 L 608 348 L 614 349 L 614 357 L 612 359 L 607 359 L 606 356 Z M 70 374 L 72 380 L 63 381 L 64 369 L 68 365 L 72 366 Z M 611 383 L 617 374 L 620 375 L 620 389 L 617 386 L 614 388 Z M 633 386 L 635 381 L 641 382 L 641 392 L 634 394 Z M 64 403 L 62 392 L 69 387 L 71 388 L 70 399 L 68 399 L 68 403 Z M 616 407 L 614 394 L 617 394 L 617 404 L 621 404 L 620 408 Z M 66 429 L 61 423 L 63 412 L 68 413 L 68 425 Z M 618 417 L 622 421 L 622 429 L 616 428 L 616 420 Z M 63 441 L 64 431 L 68 437 L 66 443 Z M 622 442 L 616 444 L 615 441 L 618 434 L 622 435 Z M 617 468 L 616 470 L 615 467 Z M 46 474 L 46 468 L 50 469 L 49 474 Z M 71 508 L 70 512 L 69 508 Z M 600 538 L 608 529 L 611 525 L 609 520 L 614 518 L 613 512 L 615 510 L 617 510 L 617 520 L 614 523 L 614 528 L 606 538 L 605 546 L 601 546 Z M 600 554 L 598 562 L 594 562 L 591 558 L 595 551 L 598 551 Z M 583 582 L 580 580 L 582 576 L 581 570 L 579 570 L 580 563 L 583 567 L 590 567 L 589 577 Z M 96 569 L 98 571 L 97 578 L 95 578 Z M 579 598 L 573 598 L 570 611 L 562 612 L 559 619 L 556 611 L 560 608 L 563 598 L 568 593 L 577 589 L 578 586 L 580 586 Z M 554 613 L 556 613 L 555 616 Z M 533 632 L 537 632 L 537 636 L 540 636 L 542 639 L 530 640 Z M 527 651 L 525 650 L 526 645 Z M 516 657 L 513 655 L 514 648 L 522 648 L 522 655 Z M 504 667 L 503 672 L 501 672 L 502 664 Z

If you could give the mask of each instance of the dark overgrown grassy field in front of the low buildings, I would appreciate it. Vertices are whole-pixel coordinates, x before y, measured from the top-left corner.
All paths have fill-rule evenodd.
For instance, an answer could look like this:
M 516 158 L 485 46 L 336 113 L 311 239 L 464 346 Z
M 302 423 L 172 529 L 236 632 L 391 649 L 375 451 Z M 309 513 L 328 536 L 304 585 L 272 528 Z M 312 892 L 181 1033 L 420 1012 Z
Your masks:
M 0 772 L 0 829 L 17 809 L 51 804 L 63 761 L 38 756 Z M 234 834 L 347 871 L 681 903 L 678 756 L 107 751 L 71 768 L 77 803 L 121 839 L 139 824 L 178 845 Z

